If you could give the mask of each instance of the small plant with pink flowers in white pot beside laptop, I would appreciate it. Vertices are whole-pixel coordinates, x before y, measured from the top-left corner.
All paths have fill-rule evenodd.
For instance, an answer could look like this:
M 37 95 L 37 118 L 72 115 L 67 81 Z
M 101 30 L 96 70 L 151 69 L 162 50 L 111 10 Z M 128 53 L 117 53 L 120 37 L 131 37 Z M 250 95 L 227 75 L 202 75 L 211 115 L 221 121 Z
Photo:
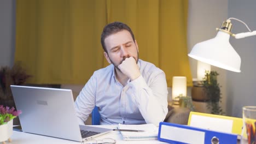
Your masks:
M 0 105 L 0 142 L 8 140 L 11 142 L 10 136 L 13 134 L 13 119 L 19 116 L 20 110 L 16 111 L 14 107 Z

